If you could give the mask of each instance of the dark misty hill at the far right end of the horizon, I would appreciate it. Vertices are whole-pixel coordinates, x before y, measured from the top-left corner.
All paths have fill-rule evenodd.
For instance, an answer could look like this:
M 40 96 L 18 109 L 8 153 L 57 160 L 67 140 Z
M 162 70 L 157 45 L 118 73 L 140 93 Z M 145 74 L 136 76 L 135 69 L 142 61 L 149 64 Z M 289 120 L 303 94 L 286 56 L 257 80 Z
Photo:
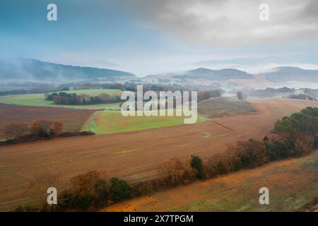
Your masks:
M 280 66 L 262 73 L 272 82 L 303 81 L 318 83 L 318 70 L 305 70 L 293 66 Z

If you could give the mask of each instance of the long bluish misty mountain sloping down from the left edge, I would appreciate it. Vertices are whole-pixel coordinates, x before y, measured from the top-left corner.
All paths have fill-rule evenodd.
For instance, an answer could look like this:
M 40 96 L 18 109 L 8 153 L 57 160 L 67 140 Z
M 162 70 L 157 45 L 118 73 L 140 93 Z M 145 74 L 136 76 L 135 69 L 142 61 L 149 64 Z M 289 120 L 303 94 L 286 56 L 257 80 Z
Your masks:
M 135 78 L 133 73 L 85 66 L 54 64 L 37 59 L 0 61 L 1 79 L 33 79 L 39 81 L 117 80 Z

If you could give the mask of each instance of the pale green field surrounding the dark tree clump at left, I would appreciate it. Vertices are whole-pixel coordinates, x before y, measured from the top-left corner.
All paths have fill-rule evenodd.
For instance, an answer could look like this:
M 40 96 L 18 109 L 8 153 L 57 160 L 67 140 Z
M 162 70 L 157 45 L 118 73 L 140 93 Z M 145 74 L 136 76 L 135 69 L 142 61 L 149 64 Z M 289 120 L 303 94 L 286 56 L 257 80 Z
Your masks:
M 90 96 L 96 96 L 101 93 L 107 93 L 108 95 L 120 95 L 122 93 L 122 90 L 95 89 L 70 90 L 63 92 L 76 93 L 77 95 L 86 94 Z M 98 105 L 54 105 L 53 101 L 45 100 L 44 93 L 4 96 L 0 97 L 0 102 L 8 105 L 26 105 L 35 107 L 69 107 L 74 109 L 120 109 L 119 103 Z

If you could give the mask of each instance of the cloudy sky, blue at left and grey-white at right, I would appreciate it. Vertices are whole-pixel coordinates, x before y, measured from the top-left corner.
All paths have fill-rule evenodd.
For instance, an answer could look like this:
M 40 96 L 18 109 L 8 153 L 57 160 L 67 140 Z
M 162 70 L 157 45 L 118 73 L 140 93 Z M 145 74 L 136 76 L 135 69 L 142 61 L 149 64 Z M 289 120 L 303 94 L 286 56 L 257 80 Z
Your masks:
M 57 21 L 47 20 L 51 3 Z M 259 20 L 260 4 L 269 21 Z M 199 66 L 318 69 L 317 50 L 317 0 L 0 1 L 1 59 L 147 76 Z

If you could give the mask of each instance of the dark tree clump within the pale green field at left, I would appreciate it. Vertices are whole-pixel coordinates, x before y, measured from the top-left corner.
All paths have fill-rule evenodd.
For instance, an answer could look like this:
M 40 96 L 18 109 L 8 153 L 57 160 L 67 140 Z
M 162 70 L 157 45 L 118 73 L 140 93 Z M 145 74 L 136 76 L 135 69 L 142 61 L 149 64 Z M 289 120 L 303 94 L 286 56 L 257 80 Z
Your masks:
M 45 94 L 45 100 L 52 100 L 56 105 L 95 105 L 122 102 L 119 96 L 111 96 L 106 93 L 90 97 L 86 94 L 76 95 L 76 93 L 59 92 Z

